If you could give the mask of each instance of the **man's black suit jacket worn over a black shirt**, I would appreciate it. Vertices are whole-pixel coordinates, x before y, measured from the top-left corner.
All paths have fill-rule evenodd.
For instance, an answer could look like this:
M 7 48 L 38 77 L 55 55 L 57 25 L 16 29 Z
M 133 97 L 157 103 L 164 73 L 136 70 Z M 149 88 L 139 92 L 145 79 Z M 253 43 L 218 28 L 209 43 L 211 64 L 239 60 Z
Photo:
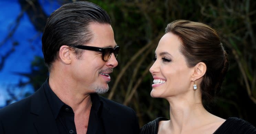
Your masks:
M 114 101 L 102 100 L 102 120 L 106 134 L 138 134 L 134 110 Z M 97 125 L 97 124 L 95 124 Z M 58 134 L 46 99 L 44 85 L 33 95 L 0 109 L 0 134 Z

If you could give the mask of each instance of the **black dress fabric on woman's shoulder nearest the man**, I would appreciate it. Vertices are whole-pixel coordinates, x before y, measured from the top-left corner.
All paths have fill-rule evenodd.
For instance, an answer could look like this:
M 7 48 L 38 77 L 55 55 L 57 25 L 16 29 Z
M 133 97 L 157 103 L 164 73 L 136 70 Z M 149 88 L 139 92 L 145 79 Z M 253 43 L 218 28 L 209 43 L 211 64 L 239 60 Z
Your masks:
M 140 134 L 157 134 L 159 121 L 167 121 L 168 119 L 159 117 L 153 121 L 148 122 L 140 129 Z

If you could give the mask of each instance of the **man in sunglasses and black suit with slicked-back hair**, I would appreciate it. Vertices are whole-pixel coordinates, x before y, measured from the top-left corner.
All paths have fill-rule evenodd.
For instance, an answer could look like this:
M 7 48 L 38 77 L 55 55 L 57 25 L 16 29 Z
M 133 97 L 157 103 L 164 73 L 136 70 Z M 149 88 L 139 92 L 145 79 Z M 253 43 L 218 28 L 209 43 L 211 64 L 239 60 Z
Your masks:
M 1 134 L 136 134 L 134 110 L 98 96 L 118 64 L 108 14 L 90 2 L 65 4 L 42 36 L 50 76 L 33 95 L 0 110 Z

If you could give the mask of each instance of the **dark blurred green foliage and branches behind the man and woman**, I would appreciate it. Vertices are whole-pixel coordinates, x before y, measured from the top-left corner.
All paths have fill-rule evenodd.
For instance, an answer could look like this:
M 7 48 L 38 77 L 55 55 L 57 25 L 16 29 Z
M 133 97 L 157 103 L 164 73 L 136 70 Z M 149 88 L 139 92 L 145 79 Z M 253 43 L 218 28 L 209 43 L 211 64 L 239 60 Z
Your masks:
M 119 64 L 111 74 L 110 91 L 103 96 L 132 107 L 140 126 L 157 117 L 169 118 L 169 103 L 150 97 L 149 68 L 164 28 L 177 19 L 203 22 L 217 29 L 230 56 L 223 90 L 216 96 L 215 104 L 207 109 L 225 119 L 239 117 L 256 125 L 256 1 L 90 1 L 108 12 L 116 42 L 121 46 Z M 42 61 L 37 57 L 32 63 L 39 71 L 33 74 L 32 85 L 43 83 L 47 77 L 40 73 L 47 71 L 42 68 Z

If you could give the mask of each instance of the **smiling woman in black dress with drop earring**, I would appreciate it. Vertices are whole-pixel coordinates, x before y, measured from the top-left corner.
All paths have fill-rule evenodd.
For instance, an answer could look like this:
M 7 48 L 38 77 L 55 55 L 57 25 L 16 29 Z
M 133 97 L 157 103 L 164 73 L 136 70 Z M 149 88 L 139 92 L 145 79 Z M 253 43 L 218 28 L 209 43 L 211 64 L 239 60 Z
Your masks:
M 239 118 L 217 117 L 203 107 L 220 90 L 228 69 L 227 53 L 211 27 L 177 20 L 167 25 L 150 68 L 150 95 L 170 103 L 170 120 L 157 118 L 141 134 L 256 134 Z

